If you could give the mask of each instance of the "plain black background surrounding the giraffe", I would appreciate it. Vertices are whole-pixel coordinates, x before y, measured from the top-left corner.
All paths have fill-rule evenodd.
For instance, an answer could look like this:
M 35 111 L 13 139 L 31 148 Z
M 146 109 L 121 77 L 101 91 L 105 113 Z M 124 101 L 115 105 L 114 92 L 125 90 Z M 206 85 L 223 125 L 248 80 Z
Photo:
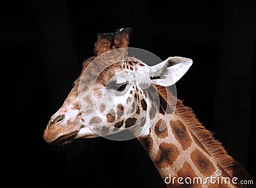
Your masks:
M 97 33 L 120 27 L 132 28 L 130 47 L 193 59 L 176 84 L 178 98 L 255 177 L 255 1 L 6 2 L 0 47 L 15 102 L 4 132 L 10 185 L 165 187 L 136 139 L 54 147 L 42 137 L 93 55 Z

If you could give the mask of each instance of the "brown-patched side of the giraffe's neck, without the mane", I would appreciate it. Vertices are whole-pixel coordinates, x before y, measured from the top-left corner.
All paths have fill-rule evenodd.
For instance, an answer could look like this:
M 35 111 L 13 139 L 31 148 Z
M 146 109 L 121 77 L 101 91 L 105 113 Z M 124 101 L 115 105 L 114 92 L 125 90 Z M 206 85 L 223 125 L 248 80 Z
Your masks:
M 150 133 L 138 139 L 168 186 L 179 185 L 178 177 L 204 180 L 206 176 L 216 176 L 217 169 L 225 172 L 178 116 L 173 116 L 169 125 L 159 131 L 162 121 L 163 116 L 159 115 Z

